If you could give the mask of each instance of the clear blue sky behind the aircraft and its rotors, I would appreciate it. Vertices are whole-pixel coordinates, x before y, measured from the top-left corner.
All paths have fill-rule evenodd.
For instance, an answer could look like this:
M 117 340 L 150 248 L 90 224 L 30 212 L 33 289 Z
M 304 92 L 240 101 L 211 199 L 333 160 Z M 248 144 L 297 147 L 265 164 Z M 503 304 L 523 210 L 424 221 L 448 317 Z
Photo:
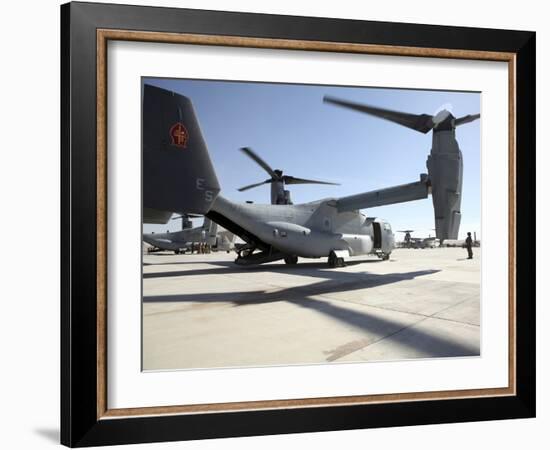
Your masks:
M 442 106 L 456 117 L 480 112 L 480 94 L 470 92 L 155 78 L 143 82 L 192 100 L 222 194 L 243 202 L 269 203 L 270 191 L 269 185 L 237 191 L 268 178 L 240 147 L 251 147 L 288 175 L 341 183 L 289 186 L 294 203 L 409 183 L 427 172 L 431 133 L 324 104 L 326 94 L 418 114 L 434 114 Z M 458 127 L 456 135 L 464 155 L 459 237 L 467 231 L 477 231 L 480 237 L 480 121 Z M 413 236 L 434 234 L 431 198 L 363 212 L 389 220 L 394 231 L 410 228 L 417 230 Z M 144 231 L 179 227 L 179 221 L 171 221 L 146 224 Z

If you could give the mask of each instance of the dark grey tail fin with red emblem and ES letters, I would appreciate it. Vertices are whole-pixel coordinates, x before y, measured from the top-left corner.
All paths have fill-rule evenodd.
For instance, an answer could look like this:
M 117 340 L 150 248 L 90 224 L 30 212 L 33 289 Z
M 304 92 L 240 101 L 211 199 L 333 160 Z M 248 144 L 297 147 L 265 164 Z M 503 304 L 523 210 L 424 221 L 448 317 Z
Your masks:
M 191 100 L 146 84 L 142 132 L 144 212 L 206 214 L 220 185 Z

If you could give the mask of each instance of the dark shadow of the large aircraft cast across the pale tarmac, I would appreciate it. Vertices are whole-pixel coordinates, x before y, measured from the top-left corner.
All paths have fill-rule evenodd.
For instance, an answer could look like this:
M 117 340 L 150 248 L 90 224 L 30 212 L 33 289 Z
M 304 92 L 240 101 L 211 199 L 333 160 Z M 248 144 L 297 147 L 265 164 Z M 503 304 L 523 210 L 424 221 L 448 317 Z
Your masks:
M 243 272 L 238 268 L 228 270 L 228 267 L 207 270 L 191 270 L 189 272 L 192 272 L 195 275 L 211 274 L 213 273 L 213 270 L 215 271 L 214 273 Z M 281 266 L 280 269 L 270 267 L 269 270 L 281 273 L 286 273 L 289 271 L 289 269 L 285 266 Z M 389 333 L 386 333 L 386 336 L 384 337 L 385 339 L 391 339 L 392 342 L 414 350 L 415 352 L 422 354 L 424 357 L 479 356 L 479 346 L 465 345 L 450 338 L 430 334 L 418 328 L 404 326 L 402 323 L 391 319 L 377 317 L 372 314 L 352 310 L 350 308 L 344 308 L 336 305 L 333 301 L 325 301 L 320 298 L 310 298 L 312 296 L 319 296 L 334 292 L 373 288 L 390 283 L 412 280 L 416 277 L 430 275 L 439 271 L 440 270 L 420 270 L 415 272 L 380 275 L 367 272 L 349 273 L 337 270 L 324 270 L 315 272 L 315 276 L 325 278 L 323 281 L 305 286 L 284 288 L 278 291 L 256 290 L 228 293 L 146 296 L 143 298 L 143 302 L 227 302 L 232 303 L 234 306 L 247 306 L 285 301 L 303 308 L 313 309 L 321 314 L 330 316 L 331 318 L 343 322 L 348 326 L 352 326 L 360 330 L 373 332 L 375 334 L 381 333 L 382 330 L 386 330 L 386 332 L 389 330 Z M 299 274 L 299 272 L 301 271 L 293 271 L 292 273 Z M 305 275 L 311 275 L 311 273 L 309 273 L 306 269 L 304 269 L 303 272 Z M 190 275 L 191 273 L 188 274 Z M 158 276 L 158 274 L 150 275 Z M 328 360 L 330 360 L 330 358 Z

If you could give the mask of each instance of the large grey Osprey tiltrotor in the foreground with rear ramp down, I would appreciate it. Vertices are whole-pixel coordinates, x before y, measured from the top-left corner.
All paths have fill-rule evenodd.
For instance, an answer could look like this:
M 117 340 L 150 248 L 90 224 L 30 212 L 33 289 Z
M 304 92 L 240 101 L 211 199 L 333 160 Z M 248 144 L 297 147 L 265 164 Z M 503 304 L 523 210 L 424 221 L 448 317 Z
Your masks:
M 455 127 L 479 114 L 455 118 L 414 115 L 325 98 L 326 102 L 368 113 L 423 133 L 433 130 L 428 174 L 419 180 L 356 195 L 295 205 L 238 203 L 220 194 L 191 100 L 145 85 L 143 91 L 143 220 L 158 223 L 174 212 L 204 214 L 245 241 L 235 263 L 262 264 L 298 257 L 328 258 L 331 267 L 350 256 L 388 259 L 394 236 L 388 222 L 361 209 L 427 198 L 431 192 L 439 239 L 456 239 L 460 224 L 462 154 Z M 167 220 L 167 219 L 166 219 Z

